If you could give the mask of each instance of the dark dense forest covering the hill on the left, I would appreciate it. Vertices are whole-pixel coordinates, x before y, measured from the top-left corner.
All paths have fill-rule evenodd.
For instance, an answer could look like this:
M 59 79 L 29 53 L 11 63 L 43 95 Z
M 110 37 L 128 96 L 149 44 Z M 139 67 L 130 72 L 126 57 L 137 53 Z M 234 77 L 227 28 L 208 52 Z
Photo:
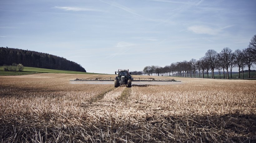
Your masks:
M 86 72 L 81 65 L 63 57 L 36 51 L 0 47 L 0 65 L 12 65 L 13 63 L 20 63 L 28 67 Z

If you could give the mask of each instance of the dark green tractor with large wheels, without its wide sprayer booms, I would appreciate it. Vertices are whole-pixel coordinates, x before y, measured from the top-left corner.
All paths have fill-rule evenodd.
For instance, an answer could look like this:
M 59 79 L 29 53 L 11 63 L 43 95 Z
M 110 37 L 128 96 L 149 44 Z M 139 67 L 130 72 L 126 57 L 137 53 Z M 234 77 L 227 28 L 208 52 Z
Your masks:
M 115 72 L 118 73 L 118 76 L 115 78 L 115 87 L 119 87 L 121 85 L 126 85 L 126 87 L 131 87 L 131 81 L 133 78 L 131 77 L 128 70 L 119 70 Z

